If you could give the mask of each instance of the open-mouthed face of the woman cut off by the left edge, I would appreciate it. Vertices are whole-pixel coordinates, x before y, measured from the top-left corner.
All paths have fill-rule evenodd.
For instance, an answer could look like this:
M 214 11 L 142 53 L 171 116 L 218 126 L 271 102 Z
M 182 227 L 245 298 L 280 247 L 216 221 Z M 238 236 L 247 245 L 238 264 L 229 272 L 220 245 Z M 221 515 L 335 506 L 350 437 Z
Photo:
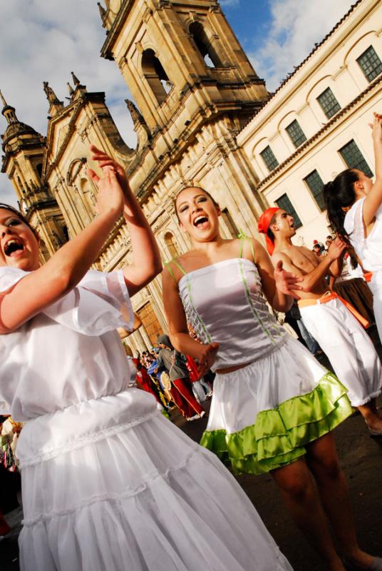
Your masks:
M 16 213 L 0 208 L 0 266 L 38 268 L 38 238 Z

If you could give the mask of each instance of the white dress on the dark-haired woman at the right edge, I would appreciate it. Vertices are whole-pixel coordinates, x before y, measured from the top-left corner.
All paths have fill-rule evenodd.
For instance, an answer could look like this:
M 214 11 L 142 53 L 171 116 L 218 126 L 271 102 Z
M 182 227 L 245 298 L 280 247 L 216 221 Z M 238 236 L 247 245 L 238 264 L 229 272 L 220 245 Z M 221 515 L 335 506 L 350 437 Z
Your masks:
M 365 198 L 360 198 L 346 213 L 344 228 L 363 268 L 373 272 L 368 285 L 373 293 L 373 310 L 379 338 L 382 340 L 382 205 L 378 208 L 376 222 L 366 237 L 363 225 L 364 202 Z

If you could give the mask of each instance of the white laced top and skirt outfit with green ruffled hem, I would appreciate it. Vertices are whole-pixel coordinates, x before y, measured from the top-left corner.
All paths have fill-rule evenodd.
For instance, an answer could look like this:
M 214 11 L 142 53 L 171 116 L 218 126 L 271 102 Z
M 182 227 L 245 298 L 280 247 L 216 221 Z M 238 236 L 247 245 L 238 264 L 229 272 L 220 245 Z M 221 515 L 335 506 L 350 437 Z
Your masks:
M 344 388 L 267 308 L 257 267 L 232 258 L 184 273 L 187 321 L 202 343 L 219 343 L 201 443 L 237 473 L 267 473 L 301 458 L 306 445 L 351 414 Z M 247 364 L 249 363 L 249 364 Z

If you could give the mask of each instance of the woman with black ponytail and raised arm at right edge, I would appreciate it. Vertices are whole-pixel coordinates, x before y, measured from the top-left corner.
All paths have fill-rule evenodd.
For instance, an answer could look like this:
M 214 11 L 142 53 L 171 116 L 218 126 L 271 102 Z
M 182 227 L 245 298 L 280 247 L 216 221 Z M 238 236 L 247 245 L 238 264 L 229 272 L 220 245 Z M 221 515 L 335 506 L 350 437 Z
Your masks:
M 375 181 L 357 168 L 347 168 L 324 186 L 329 222 L 350 241 L 365 270 L 373 272 L 368 284 L 382 340 L 382 116 L 371 125 Z

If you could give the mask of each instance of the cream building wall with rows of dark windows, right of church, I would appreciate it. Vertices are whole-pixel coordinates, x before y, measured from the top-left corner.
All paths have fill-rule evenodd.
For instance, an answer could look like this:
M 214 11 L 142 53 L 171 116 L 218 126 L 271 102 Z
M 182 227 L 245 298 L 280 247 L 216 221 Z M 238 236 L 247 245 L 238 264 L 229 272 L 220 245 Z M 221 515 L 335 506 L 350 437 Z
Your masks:
M 382 60 L 382 4 L 362 0 L 237 136 L 259 178 L 257 191 L 274 206 L 287 193 L 303 226 L 296 243 L 311 247 L 330 228 L 304 178 L 316 170 L 324 183 L 344 170 L 339 149 L 353 139 L 373 170 L 368 123 L 381 112 L 381 74 L 369 82 L 357 59 L 369 46 Z M 375 86 L 373 87 L 373 84 Z M 327 118 L 317 97 L 330 88 L 341 110 Z M 295 148 L 286 127 L 297 120 L 306 143 Z M 260 153 L 272 148 L 279 166 L 269 171 Z

